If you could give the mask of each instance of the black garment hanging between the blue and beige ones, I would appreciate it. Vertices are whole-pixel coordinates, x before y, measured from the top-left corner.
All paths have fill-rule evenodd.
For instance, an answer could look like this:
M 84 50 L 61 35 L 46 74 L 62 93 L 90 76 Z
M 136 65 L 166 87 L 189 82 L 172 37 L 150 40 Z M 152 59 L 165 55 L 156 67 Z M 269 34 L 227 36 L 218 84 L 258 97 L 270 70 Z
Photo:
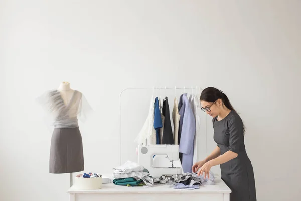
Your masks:
M 164 116 L 164 128 L 161 144 L 175 144 L 167 97 L 163 100 L 162 114 Z

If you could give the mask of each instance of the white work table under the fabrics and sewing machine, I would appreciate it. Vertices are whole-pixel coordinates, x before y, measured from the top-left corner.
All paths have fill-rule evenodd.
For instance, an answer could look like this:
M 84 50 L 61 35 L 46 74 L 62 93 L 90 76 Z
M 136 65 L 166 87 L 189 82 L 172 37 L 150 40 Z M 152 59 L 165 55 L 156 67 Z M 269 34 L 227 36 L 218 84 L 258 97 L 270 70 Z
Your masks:
M 71 187 L 67 193 L 70 201 L 133 201 L 133 200 L 210 200 L 229 201 L 231 190 L 220 178 L 215 178 L 215 185 L 200 185 L 199 189 L 173 189 L 168 184 L 155 184 L 152 187 L 118 186 L 113 183 L 102 184 L 98 190 L 78 190 Z

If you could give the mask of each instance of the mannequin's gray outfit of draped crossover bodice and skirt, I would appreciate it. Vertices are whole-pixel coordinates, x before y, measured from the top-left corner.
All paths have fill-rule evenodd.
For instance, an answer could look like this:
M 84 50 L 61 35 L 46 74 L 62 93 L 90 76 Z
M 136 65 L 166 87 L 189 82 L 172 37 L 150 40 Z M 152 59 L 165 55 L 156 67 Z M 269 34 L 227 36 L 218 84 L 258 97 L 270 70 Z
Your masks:
M 82 94 L 75 90 L 70 102 L 65 105 L 60 92 L 50 92 L 52 106 L 56 109 L 54 130 L 51 137 L 49 173 L 71 173 L 84 170 L 82 136 L 77 116 L 70 117 L 72 106 L 78 105 Z M 77 112 L 75 112 L 77 113 Z

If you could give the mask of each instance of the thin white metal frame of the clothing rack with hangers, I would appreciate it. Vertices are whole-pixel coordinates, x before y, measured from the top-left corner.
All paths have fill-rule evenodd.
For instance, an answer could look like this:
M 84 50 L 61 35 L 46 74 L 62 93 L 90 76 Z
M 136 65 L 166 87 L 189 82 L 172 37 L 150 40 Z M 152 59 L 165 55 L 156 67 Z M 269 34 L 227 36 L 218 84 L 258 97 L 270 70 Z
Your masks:
M 152 88 L 125 88 L 125 89 L 123 89 L 121 92 L 120 92 L 120 94 L 119 94 L 119 165 L 122 165 L 121 164 L 121 96 L 122 96 L 122 94 L 123 94 L 123 92 L 124 91 L 127 91 L 127 90 L 153 90 L 153 95 L 154 95 L 154 91 L 156 90 L 175 90 L 175 94 L 177 94 L 176 93 L 176 91 L 177 90 L 184 90 L 184 93 L 186 93 L 186 90 L 188 90 L 188 91 L 191 91 L 192 93 L 193 93 L 193 90 L 196 90 L 196 93 L 193 93 L 193 94 L 197 94 L 198 93 L 198 91 L 200 90 L 200 91 L 202 91 L 203 89 L 201 88 L 201 87 L 198 87 L 198 86 L 196 86 L 196 87 L 193 87 L 193 86 L 191 86 L 191 87 L 174 87 L 174 88 L 172 88 L 172 87 L 161 87 L 161 86 L 159 86 L 159 87 L 152 87 Z M 197 108 L 201 108 L 201 107 L 197 107 Z M 206 118 L 206 142 L 207 142 L 207 118 Z M 206 155 L 208 155 L 208 153 L 207 153 L 207 143 L 206 143 Z

